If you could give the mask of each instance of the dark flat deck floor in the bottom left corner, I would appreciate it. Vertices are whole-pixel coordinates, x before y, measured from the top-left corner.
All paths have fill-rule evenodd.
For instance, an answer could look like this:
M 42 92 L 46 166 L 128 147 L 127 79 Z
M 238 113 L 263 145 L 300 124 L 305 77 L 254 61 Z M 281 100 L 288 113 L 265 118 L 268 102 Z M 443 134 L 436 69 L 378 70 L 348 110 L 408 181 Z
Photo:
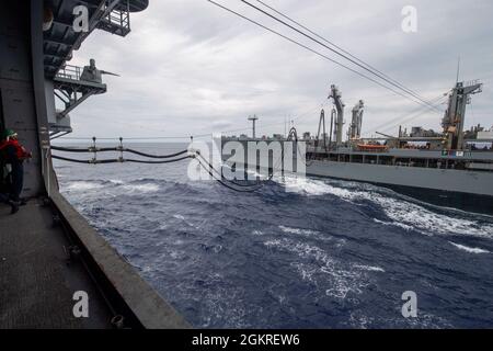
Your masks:
M 0 205 L 0 328 L 108 328 L 111 312 L 69 242 L 54 227 L 53 212 L 32 200 L 20 212 Z M 89 318 L 72 314 L 73 293 L 85 291 Z

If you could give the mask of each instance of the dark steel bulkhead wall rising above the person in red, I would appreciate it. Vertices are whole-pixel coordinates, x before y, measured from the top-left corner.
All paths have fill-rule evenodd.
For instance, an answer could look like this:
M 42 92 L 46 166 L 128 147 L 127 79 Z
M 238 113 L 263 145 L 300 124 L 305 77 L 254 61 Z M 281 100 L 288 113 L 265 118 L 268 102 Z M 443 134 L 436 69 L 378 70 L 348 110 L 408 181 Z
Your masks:
M 36 7 L 37 1 L 33 1 Z M 7 128 L 19 133 L 19 140 L 33 152 L 33 159 L 25 163 L 24 196 L 36 196 L 44 192 L 42 178 L 42 150 L 39 147 L 38 104 L 44 94 L 36 99 L 43 83 L 36 84 L 32 50 L 36 49 L 36 37 L 32 37 L 30 12 L 22 7 L 22 1 L 5 1 L 0 11 L 0 91 L 3 120 Z M 43 11 L 39 10 L 42 21 Z M 34 13 L 34 11 L 33 11 Z M 37 22 L 39 25 L 42 22 Z M 41 31 L 38 31 L 41 32 Z M 42 35 L 41 33 L 38 35 Z M 33 53 L 33 56 L 41 59 Z M 43 77 L 43 60 L 41 75 Z M 46 111 L 46 109 L 45 109 Z M 39 132 L 38 132 L 39 131 Z

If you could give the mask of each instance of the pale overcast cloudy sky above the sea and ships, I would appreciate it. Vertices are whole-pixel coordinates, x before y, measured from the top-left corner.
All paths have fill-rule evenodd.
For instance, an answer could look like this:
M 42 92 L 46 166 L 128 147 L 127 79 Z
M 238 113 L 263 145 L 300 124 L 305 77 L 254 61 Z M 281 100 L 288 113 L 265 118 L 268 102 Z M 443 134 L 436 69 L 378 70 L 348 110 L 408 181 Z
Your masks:
M 217 1 L 341 59 L 239 0 Z M 484 83 L 467 125 L 493 124 L 491 0 L 264 1 L 427 100 L 452 87 L 460 55 L 460 78 Z M 401 29 L 408 4 L 417 9 L 416 33 Z M 72 137 L 238 135 L 250 132 L 246 117 L 253 114 L 261 135 L 284 133 L 286 118 L 299 132 L 314 133 L 321 106 L 332 109 L 326 97 L 333 83 L 343 93 L 347 122 L 353 105 L 365 100 L 365 134 L 395 133 L 401 120 L 439 129 L 442 113 L 410 120 L 420 105 L 206 0 L 150 0 L 145 12 L 133 14 L 131 27 L 126 38 L 96 31 L 74 53 L 70 64 L 92 57 L 122 77 L 105 76 L 108 92 L 71 113 Z

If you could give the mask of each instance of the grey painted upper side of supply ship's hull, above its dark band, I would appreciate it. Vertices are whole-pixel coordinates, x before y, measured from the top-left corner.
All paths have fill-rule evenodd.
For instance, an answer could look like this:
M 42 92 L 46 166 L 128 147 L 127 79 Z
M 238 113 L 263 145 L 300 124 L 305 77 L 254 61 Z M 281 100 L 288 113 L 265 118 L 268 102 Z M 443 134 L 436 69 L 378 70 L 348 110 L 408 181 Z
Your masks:
M 228 140 L 228 139 L 225 139 Z M 225 141 L 223 140 L 223 141 Z M 252 140 L 240 140 L 244 147 L 245 160 L 246 154 L 255 152 L 254 143 Z M 267 143 L 272 143 L 267 141 Z M 289 141 L 283 141 L 289 143 Z M 313 148 L 309 148 L 308 152 L 314 152 Z M 324 152 L 314 152 L 318 157 L 325 157 Z M 463 156 L 443 156 L 442 151 L 435 150 L 417 150 L 417 149 L 390 149 L 387 152 L 362 152 L 353 151 L 348 148 L 340 148 L 339 150 L 330 151 L 332 156 L 362 156 L 374 160 L 377 157 L 387 157 L 395 159 L 434 159 L 446 161 L 463 161 L 465 163 L 474 165 L 475 162 L 485 162 L 482 165 L 493 165 L 493 152 L 491 151 L 466 151 Z M 223 155 L 226 161 L 229 157 Z M 261 154 L 259 157 L 265 157 Z M 294 155 L 297 158 L 297 155 Z M 257 159 L 260 165 L 270 165 L 273 167 L 273 158 L 270 156 L 268 160 Z M 249 163 L 248 161 L 246 163 Z M 230 162 L 228 162 L 230 163 Z M 250 162 L 251 163 L 251 162 Z M 442 168 L 425 168 L 411 167 L 399 165 L 375 165 L 375 163 L 358 163 L 358 162 L 343 162 L 323 160 L 308 160 L 306 161 L 307 176 L 337 178 L 344 180 L 353 180 L 368 183 L 410 186 L 417 189 L 431 189 L 437 191 L 447 191 L 465 194 L 493 196 L 493 172 L 486 170 L 458 170 L 458 169 L 442 169 Z M 255 168 L 255 165 L 249 165 Z M 275 168 L 278 169 L 280 165 Z

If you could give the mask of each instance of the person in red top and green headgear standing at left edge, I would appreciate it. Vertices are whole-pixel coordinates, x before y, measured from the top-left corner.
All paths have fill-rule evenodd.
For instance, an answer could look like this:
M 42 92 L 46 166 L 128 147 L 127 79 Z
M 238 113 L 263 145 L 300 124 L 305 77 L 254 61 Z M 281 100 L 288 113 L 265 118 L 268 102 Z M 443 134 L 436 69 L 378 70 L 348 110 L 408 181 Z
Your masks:
M 12 206 L 12 214 L 19 211 L 22 188 L 24 186 L 24 160 L 32 158 L 18 140 L 18 134 L 11 129 L 3 133 L 0 141 L 0 158 L 2 160 L 2 194 L 0 200 Z M 7 169 L 7 172 L 5 172 Z M 4 180 L 7 180 L 4 182 Z M 3 193 L 3 191 L 7 191 Z

